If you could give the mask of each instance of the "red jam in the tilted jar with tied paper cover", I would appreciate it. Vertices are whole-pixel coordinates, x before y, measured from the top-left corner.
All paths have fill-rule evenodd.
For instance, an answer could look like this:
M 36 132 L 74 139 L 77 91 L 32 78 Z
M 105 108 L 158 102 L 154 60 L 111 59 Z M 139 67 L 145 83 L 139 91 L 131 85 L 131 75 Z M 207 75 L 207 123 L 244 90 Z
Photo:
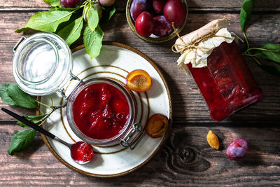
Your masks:
M 207 57 L 207 67 L 188 68 L 202 92 L 211 118 L 223 120 L 235 111 L 262 99 L 235 41 L 221 43 Z

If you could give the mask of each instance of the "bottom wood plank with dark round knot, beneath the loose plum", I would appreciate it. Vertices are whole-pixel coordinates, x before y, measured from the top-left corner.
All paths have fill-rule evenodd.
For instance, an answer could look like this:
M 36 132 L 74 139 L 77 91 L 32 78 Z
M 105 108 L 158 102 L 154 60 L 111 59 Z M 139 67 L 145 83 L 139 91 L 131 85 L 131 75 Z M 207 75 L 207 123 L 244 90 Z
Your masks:
M 18 155 L 6 149 L 16 125 L 0 126 L 1 185 L 44 186 L 88 184 L 97 186 L 265 186 L 279 185 L 280 130 L 256 127 L 173 127 L 167 144 L 147 165 L 116 179 L 96 179 L 71 171 L 51 155 L 41 137 Z M 221 139 L 219 151 L 210 148 L 206 135 L 214 131 Z M 239 137 L 248 140 L 249 151 L 240 160 L 229 160 L 225 151 Z

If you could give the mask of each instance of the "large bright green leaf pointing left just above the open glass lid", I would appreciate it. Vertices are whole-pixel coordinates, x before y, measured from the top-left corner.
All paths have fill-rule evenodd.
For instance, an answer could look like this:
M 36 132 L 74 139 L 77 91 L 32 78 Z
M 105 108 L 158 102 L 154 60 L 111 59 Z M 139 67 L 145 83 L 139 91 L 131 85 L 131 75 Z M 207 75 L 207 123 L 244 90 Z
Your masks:
M 25 27 L 16 29 L 15 32 L 23 32 L 34 29 L 42 32 L 55 32 L 58 25 L 66 22 L 74 11 L 44 11 L 35 13 L 27 22 Z

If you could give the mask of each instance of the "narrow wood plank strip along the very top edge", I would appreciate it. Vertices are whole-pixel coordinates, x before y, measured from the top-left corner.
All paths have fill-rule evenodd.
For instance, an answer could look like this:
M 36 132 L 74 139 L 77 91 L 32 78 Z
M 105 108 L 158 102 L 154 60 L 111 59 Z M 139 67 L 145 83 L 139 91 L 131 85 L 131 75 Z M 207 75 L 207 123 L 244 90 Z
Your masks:
M 243 0 L 235 1 L 204 1 L 204 0 L 190 0 L 187 1 L 189 11 L 223 11 L 232 12 L 240 11 Z M 125 11 L 127 1 L 117 0 L 116 7 L 118 11 Z M 254 11 L 280 11 L 280 1 L 274 0 L 259 0 L 254 2 Z M 48 4 L 43 0 L 30 0 L 30 1 L 5 1 L 0 4 L 0 11 L 47 11 Z

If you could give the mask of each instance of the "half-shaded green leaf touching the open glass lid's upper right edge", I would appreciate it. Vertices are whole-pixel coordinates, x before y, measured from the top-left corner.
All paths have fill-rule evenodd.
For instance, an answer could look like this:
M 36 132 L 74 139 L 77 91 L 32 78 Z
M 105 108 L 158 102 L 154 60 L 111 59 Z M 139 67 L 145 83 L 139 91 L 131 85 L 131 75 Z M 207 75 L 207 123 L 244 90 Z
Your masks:
M 57 34 L 66 41 L 70 46 L 74 41 L 80 37 L 80 32 L 83 29 L 83 17 L 80 17 L 69 25 L 61 29 Z

